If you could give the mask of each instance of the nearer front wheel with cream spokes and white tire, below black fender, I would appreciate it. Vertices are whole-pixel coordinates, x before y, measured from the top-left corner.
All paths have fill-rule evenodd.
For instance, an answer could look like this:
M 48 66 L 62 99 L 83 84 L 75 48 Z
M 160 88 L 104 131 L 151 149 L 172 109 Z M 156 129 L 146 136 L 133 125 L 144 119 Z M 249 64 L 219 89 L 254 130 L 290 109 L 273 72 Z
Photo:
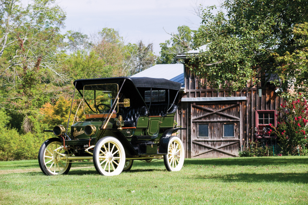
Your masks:
M 111 136 L 98 140 L 93 151 L 93 163 L 101 175 L 119 175 L 125 166 L 125 152 L 121 142 Z

